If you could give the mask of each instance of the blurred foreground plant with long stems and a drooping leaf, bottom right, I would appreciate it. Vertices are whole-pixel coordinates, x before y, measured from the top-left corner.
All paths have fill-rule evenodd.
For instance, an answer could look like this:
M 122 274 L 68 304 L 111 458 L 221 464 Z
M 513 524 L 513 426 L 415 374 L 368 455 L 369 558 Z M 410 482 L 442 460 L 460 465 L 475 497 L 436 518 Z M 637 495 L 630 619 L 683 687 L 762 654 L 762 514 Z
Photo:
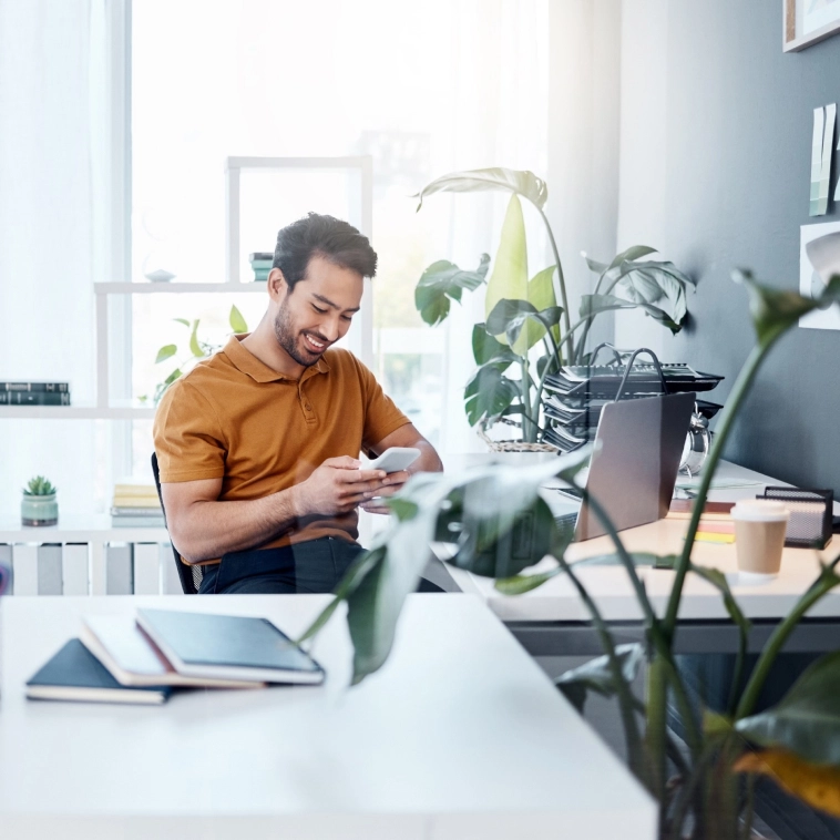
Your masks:
M 555 524 L 539 488 L 554 475 L 574 484 L 585 463 L 584 454 L 525 469 L 491 465 L 458 474 L 421 473 L 390 500 L 392 515 L 387 530 L 349 570 L 335 600 L 304 636 L 317 633 L 346 601 L 355 647 L 354 682 L 377 670 L 388 658 L 403 602 L 417 586 L 432 541 L 452 543 L 450 562 L 495 578 L 495 587 L 510 595 L 566 575 L 588 609 L 604 654 L 564 674 L 559 688 L 578 708 L 591 692 L 616 698 L 629 767 L 659 802 L 663 839 L 749 837 L 757 774 L 769 775 L 813 807 L 840 817 L 840 653 L 818 659 L 776 706 L 762 711 L 756 708 L 770 668 L 798 622 L 840 584 L 840 555 L 822 565 L 749 670 L 749 621 L 725 575 L 693 561 L 700 512 L 716 465 L 764 359 L 801 316 L 840 301 L 840 276 L 830 278 L 818 299 L 760 285 L 748 273 L 739 273 L 737 279 L 750 296 L 756 344 L 721 414 L 678 555 L 629 553 L 598 500 L 584 493 L 612 537 L 615 552 L 576 563 L 566 560 L 570 535 Z M 592 562 L 623 567 L 644 616 L 643 644 L 616 644 L 580 574 L 581 566 Z M 537 568 L 531 568 L 537 563 Z M 663 614 L 654 611 L 638 575 L 637 567 L 646 564 L 674 570 Z M 675 657 L 677 615 L 689 574 L 701 576 L 720 592 L 740 638 L 729 699 L 723 709 L 697 708 Z M 633 684 L 643 665 L 647 668 L 647 690 L 638 697 Z M 666 726 L 669 698 L 679 720 L 679 740 Z

